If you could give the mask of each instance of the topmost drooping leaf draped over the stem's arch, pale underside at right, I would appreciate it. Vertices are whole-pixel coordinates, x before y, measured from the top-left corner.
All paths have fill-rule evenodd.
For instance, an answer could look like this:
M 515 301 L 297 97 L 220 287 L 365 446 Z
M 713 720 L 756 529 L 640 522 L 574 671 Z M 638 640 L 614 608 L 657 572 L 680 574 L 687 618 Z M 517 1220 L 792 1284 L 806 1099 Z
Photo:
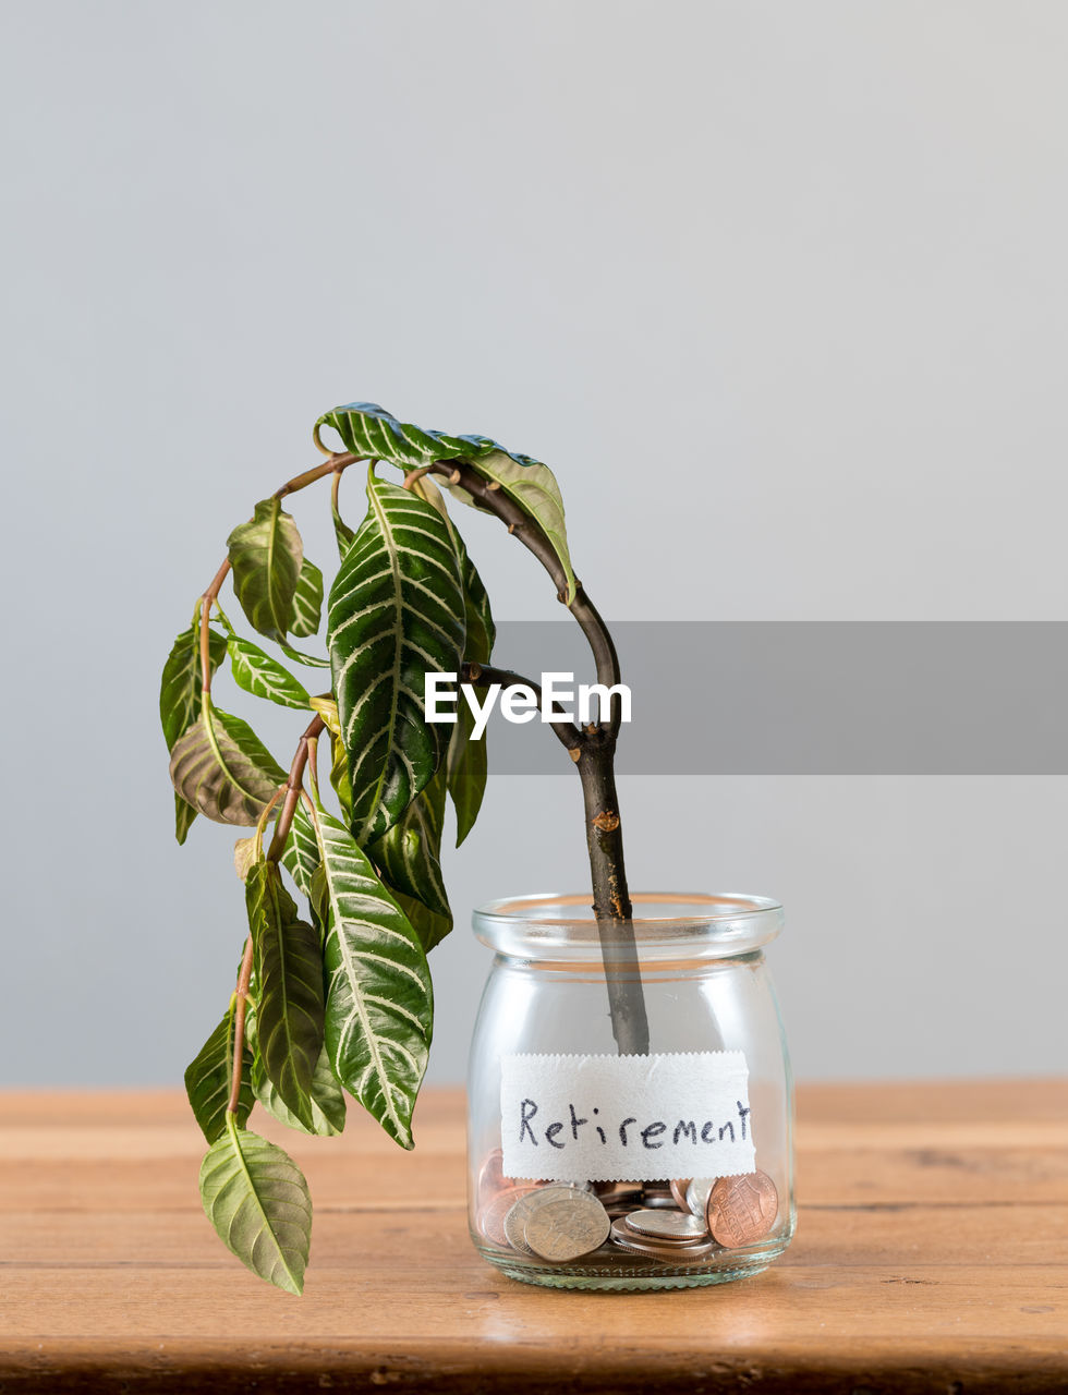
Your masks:
M 321 427 L 333 427 L 347 451 L 388 460 L 406 470 L 435 460 L 468 462 L 484 480 L 495 480 L 524 513 L 541 525 L 563 569 L 567 603 L 574 600 L 576 580 L 567 551 L 563 499 L 548 466 L 528 455 L 506 451 L 488 437 L 453 437 L 442 431 L 424 431 L 421 427 L 397 421 L 374 402 L 350 402 L 347 406 L 335 407 L 315 423 L 316 431 Z M 475 502 L 459 487 L 453 487 L 453 494 L 464 504 Z

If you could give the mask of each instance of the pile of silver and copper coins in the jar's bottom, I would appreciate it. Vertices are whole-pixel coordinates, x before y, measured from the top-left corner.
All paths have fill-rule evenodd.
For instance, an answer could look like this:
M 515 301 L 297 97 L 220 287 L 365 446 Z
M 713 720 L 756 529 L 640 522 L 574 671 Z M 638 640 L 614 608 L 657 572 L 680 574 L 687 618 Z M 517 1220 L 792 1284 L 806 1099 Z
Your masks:
M 478 1229 L 502 1250 L 551 1264 L 627 1251 L 672 1267 L 756 1244 L 774 1226 L 765 1172 L 669 1182 L 514 1182 L 495 1149 L 478 1180 Z

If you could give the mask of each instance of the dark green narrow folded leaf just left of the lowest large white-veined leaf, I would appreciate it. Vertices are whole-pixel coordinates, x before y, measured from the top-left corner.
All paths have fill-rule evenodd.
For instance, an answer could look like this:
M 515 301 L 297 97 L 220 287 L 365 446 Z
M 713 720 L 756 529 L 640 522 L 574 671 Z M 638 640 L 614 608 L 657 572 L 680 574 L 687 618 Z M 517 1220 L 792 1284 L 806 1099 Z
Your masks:
M 311 1129 L 311 1081 L 323 1036 L 319 933 L 298 918 L 273 862 L 252 865 L 245 904 L 259 983 L 259 1056 L 282 1102 Z

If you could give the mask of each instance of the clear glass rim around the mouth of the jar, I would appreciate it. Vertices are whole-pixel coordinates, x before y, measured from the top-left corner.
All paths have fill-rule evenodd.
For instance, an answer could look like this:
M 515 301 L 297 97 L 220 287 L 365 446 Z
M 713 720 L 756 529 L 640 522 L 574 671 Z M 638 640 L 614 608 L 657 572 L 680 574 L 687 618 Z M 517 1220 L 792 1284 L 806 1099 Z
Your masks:
M 745 893 L 632 891 L 634 930 L 643 956 L 697 954 L 724 958 L 767 944 L 782 929 L 782 905 Z M 646 914 L 643 914 L 646 912 Z M 471 917 L 477 937 L 501 954 L 540 958 L 600 947 L 590 893 L 541 891 L 480 905 Z

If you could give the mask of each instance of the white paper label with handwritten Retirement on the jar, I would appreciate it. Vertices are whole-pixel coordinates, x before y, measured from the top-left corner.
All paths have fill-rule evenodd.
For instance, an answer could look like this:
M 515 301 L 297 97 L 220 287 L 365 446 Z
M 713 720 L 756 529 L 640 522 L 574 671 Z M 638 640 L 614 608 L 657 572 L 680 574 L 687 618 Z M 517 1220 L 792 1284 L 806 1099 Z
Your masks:
M 651 1182 L 756 1170 L 740 1050 L 502 1056 L 506 1177 Z

